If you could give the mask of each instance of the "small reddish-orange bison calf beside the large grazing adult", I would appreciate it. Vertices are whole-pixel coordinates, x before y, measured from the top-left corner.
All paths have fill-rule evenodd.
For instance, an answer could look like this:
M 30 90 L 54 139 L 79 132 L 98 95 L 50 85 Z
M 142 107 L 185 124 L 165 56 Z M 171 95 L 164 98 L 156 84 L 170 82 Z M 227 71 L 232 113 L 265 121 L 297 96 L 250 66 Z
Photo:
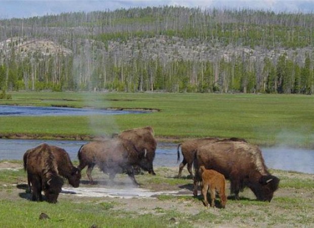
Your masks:
M 213 169 L 205 169 L 204 166 L 200 167 L 199 170 L 200 173 L 202 173 L 202 194 L 204 197 L 204 204 L 206 207 L 208 207 L 208 201 L 207 201 L 207 193 L 208 190 L 210 191 L 211 196 L 211 207 L 215 207 L 215 195 L 216 191 L 219 193 L 220 197 L 220 204 L 221 207 L 225 208 L 227 198 L 225 195 L 225 186 L 226 181 L 224 176 L 221 173 L 218 173 L 217 171 Z

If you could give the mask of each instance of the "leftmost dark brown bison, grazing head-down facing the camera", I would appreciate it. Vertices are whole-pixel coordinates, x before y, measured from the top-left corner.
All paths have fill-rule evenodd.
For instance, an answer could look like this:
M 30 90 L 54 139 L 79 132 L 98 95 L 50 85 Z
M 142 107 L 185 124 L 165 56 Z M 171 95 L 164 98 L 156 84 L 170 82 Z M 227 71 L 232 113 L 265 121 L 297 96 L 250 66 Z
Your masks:
M 26 155 L 25 155 L 26 154 Z M 63 179 L 58 174 L 57 162 L 51 147 L 44 143 L 27 150 L 23 156 L 24 170 L 27 171 L 27 180 L 32 187 L 32 200 L 42 201 L 44 191 L 49 203 L 56 203 Z

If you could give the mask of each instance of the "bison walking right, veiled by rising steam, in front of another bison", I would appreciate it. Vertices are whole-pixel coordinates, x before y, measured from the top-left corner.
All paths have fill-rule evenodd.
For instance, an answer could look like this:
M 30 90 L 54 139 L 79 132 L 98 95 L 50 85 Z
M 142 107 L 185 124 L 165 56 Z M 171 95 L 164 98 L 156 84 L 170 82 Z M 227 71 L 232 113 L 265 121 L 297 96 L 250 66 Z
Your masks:
M 146 150 L 140 153 L 134 144 L 126 139 L 112 138 L 94 141 L 81 146 L 78 150 L 77 157 L 80 164 L 77 168 L 82 170 L 88 167 L 86 173 L 91 183 L 93 183 L 92 170 L 97 165 L 101 171 L 109 174 L 111 181 L 116 173 L 126 172 L 133 183 L 138 185 L 133 166 L 139 166 L 146 171 L 150 170 L 150 163 L 146 156 Z

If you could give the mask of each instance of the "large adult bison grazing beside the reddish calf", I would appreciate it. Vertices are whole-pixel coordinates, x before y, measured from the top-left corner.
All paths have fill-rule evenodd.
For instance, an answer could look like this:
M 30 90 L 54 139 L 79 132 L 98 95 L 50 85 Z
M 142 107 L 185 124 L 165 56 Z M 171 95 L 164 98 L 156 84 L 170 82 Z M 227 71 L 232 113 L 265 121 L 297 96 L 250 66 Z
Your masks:
M 198 195 L 199 167 L 214 169 L 230 180 L 231 194 L 239 199 L 239 192 L 248 186 L 257 200 L 271 201 L 279 185 L 279 178 L 270 175 L 261 151 L 247 142 L 222 141 L 203 145 L 197 149 L 194 160 L 194 190 Z

